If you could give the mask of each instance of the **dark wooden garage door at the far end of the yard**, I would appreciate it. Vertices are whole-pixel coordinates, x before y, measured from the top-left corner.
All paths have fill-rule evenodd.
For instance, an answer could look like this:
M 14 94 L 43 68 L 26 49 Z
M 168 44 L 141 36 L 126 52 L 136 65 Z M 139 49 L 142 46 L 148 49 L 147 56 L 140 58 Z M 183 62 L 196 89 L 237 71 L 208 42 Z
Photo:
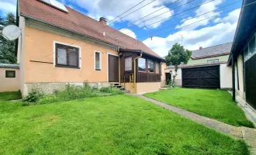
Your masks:
M 220 88 L 220 66 L 182 68 L 182 87 Z

